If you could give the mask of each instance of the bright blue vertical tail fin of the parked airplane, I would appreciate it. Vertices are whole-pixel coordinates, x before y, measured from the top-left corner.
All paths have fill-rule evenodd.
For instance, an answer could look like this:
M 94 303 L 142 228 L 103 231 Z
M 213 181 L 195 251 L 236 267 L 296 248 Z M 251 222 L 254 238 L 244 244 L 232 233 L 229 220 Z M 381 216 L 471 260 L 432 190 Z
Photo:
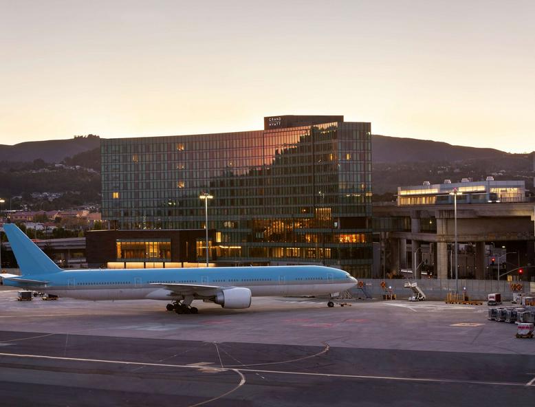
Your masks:
M 4 223 L 3 230 L 8 235 L 11 250 L 21 269 L 21 275 L 61 272 L 61 268 L 44 254 L 17 225 L 14 223 Z

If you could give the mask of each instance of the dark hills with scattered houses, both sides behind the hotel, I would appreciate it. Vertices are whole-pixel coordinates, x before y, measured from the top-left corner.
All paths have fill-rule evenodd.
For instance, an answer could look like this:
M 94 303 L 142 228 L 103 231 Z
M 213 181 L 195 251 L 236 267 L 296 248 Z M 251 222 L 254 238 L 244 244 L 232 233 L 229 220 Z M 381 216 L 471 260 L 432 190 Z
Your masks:
M 47 164 L 59 162 L 65 166 Z M 76 166 L 81 168 L 73 168 Z M 533 153 L 510 154 L 494 148 L 373 135 L 372 166 L 374 199 L 395 193 L 397 186 L 419 185 L 423 181 L 438 184 L 444 179 L 460 181 L 463 177 L 479 180 L 488 175 L 495 179 L 524 179 L 527 188 L 533 188 Z M 87 135 L 0 146 L 0 177 L 0 196 L 74 190 L 80 193 L 78 197 L 98 201 L 100 137 Z

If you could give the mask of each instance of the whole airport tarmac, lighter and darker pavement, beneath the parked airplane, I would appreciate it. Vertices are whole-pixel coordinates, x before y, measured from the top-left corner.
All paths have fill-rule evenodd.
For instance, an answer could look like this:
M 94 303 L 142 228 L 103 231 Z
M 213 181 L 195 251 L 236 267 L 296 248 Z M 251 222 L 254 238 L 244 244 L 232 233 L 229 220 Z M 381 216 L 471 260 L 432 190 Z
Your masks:
M 535 404 L 535 340 L 486 306 L 16 298 L 1 287 L 1 406 Z

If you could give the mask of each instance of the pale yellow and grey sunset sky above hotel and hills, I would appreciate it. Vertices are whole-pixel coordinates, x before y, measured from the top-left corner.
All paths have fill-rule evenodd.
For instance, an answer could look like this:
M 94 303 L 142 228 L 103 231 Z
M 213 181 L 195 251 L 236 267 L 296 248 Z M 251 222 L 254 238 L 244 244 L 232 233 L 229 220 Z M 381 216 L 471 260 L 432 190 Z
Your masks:
M 534 0 L 0 0 L 0 143 L 263 128 L 535 150 Z

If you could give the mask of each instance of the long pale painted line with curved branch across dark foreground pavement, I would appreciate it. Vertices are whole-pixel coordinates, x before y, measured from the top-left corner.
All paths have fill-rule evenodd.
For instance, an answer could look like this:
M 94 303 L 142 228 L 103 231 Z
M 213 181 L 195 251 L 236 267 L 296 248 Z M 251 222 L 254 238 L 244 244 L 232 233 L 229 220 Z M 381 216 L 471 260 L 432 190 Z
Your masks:
M 44 359 L 44 360 L 64 360 L 67 362 L 89 362 L 89 363 L 107 363 L 107 364 L 120 364 L 120 365 L 131 365 L 131 366 L 157 366 L 157 367 L 173 367 L 173 368 L 184 368 L 184 369 L 199 369 L 198 366 L 190 366 L 188 364 L 164 364 L 164 363 L 150 363 L 150 362 L 127 362 L 123 360 L 105 360 L 105 359 L 85 359 L 85 358 L 62 358 L 60 356 L 46 356 L 46 355 L 24 355 L 18 353 L 0 353 L 0 356 L 14 357 L 14 358 L 34 358 L 34 359 Z M 272 373 L 277 375 L 294 375 L 294 376 L 312 376 L 312 377 L 338 377 L 340 379 L 369 379 L 369 380 L 395 380 L 399 382 L 425 382 L 425 383 L 456 383 L 456 384 L 481 384 L 483 386 L 527 386 L 527 384 L 518 383 L 518 382 L 484 382 L 479 380 L 461 380 L 461 379 L 430 379 L 428 377 L 399 377 L 399 376 L 374 376 L 374 375 L 342 375 L 338 373 L 309 373 L 309 372 L 293 372 L 293 371 L 267 371 L 261 369 L 239 369 L 230 367 L 217 367 L 214 366 L 212 369 L 218 372 L 234 371 L 238 373 L 241 377 L 239 384 L 232 389 L 231 391 L 216 397 L 219 399 L 232 393 L 237 390 L 237 388 L 245 384 L 245 376 L 242 372 L 250 373 Z M 535 382 L 531 380 L 529 383 Z M 210 399 L 207 401 L 202 401 L 199 404 L 193 404 L 190 407 L 201 406 L 206 404 L 209 401 L 215 399 Z

